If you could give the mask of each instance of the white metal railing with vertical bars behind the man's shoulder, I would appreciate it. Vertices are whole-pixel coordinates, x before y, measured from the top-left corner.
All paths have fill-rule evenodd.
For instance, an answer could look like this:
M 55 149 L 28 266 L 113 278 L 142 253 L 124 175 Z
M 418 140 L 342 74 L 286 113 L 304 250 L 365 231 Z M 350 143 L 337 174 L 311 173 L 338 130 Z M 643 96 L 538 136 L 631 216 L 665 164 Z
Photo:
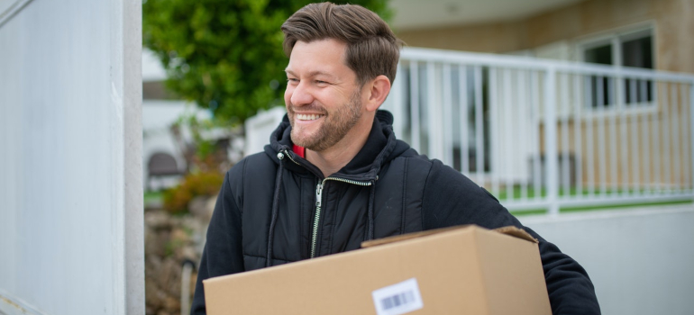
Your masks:
M 384 104 L 420 153 L 550 213 L 694 200 L 693 107 L 692 75 L 415 48 Z

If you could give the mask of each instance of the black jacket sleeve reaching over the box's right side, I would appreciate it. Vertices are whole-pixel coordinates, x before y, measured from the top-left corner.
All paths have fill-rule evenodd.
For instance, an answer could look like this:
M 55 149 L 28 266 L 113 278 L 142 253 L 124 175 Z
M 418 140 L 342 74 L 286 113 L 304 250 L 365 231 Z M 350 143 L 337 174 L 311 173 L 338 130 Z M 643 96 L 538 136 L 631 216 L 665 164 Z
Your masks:
M 514 225 L 537 238 L 552 314 L 600 314 L 586 271 L 558 247 L 524 227 L 494 196 L 441 161 L 434 160 L 423 196 L 423 228 L 476 224 L 487 229 Z M 441 198 L 440 196 L 445 196 Z

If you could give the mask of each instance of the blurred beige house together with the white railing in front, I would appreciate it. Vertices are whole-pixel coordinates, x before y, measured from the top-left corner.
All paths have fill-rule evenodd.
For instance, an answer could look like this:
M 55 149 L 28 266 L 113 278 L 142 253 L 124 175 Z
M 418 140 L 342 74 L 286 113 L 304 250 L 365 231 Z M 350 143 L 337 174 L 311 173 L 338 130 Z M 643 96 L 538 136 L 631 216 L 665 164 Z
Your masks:
M 391 4 L 398 136 L 509 209 L 694 198 L 694 1 Z

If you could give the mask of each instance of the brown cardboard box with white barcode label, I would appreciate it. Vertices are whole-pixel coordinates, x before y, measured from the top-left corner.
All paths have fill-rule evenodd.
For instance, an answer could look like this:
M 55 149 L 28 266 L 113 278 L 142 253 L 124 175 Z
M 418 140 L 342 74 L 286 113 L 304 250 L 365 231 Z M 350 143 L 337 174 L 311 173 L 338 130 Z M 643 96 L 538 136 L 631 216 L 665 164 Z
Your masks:
M 466 226 L 205 280 L 207 314 L 551 314 L 537 243 Z

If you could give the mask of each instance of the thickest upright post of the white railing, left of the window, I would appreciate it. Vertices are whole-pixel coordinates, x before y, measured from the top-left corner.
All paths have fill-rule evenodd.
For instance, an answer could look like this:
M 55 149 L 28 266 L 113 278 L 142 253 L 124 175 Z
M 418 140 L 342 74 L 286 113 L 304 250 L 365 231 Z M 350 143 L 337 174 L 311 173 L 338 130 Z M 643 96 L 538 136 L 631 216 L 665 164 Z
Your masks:
M 544 76 L 544 174 L 547 177 L 547 202 L 550 215 L 559 214 L 559 190 L 557 183 L 557 112 L 556 112 L 556 68 L 547 67 Z

